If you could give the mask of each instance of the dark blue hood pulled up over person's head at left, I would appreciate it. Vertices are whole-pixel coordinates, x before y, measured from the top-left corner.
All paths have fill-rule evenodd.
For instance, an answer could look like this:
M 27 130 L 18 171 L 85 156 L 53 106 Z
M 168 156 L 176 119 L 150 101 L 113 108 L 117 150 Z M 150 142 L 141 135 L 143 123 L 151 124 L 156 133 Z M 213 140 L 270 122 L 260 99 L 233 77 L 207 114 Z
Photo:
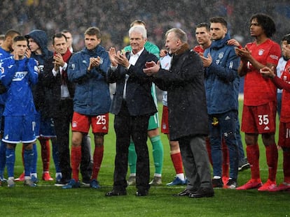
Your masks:
M 46 32 L 43 30 L 35 29 L 25 35 L 26 38 L 32 38 L 37 45 L 39 45 L 41 52 L 43 53 L 43 57 L 48 57 L 48 36 Z

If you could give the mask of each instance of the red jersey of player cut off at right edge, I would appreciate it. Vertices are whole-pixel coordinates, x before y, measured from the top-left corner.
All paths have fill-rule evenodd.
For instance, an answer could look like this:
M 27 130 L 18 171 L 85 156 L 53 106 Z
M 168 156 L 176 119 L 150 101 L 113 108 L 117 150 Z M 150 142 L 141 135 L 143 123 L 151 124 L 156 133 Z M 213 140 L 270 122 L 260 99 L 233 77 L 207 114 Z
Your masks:
M 290 60 L 287 61 L 284 71 L 281 74 L 281 80 L 290 84 Z M 287 123 L 290 122 L 290 92 L 282 91 L 282 105 L 280 121 Z

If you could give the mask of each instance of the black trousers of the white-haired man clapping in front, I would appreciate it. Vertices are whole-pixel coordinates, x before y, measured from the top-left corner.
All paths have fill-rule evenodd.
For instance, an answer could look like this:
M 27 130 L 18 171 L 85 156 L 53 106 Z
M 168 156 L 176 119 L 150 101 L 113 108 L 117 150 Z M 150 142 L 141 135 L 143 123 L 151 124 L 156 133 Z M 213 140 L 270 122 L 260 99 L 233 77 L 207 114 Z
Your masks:
M 116 158 L 113 174 L 113 189 L 125 190 L 127 187 L 127 163 L 130 138 L 137 153 L 136 186 L 138 190 L 149 190 L 149 153 L 147 147 L 147 130 L 149 115 L 130 116 L 127 105 L 123 103 L 118 115 L 115 115 Z

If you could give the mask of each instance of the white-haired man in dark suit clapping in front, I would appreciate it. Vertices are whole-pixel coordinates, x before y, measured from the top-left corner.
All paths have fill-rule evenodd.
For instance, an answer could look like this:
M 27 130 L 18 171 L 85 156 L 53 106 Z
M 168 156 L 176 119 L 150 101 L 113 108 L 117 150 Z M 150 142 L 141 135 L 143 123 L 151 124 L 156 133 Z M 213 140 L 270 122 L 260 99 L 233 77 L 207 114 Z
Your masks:
M 130 137 L 137 152 L 136 187 L 137 196 L 149 193 L 149 153 L 146 144 L 149 117 L 157 112 L 151 96 L 151 78 L 143 73 L 146 61 L 158 61 L 157 57 L 144 49 L 146 29 L 141 26 L 129 30 L 132 52 L 121 54 L 111 47 L 111 68 L 108 81 L 116 82 L 111 113 L 115 114 L 116 158 L 113 175 L 113 190 L 106 196 L 126 195 L 126 174 Z

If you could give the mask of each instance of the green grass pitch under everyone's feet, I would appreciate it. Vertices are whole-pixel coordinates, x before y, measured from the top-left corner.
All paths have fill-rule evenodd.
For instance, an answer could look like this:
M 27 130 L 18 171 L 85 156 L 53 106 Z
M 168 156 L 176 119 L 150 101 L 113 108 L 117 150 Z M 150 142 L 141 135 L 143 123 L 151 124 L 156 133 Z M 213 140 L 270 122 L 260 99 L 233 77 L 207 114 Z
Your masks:
M 240 103 L 242 106 L 242 103 Z M 161 107 L 161 105 L 159 105 Z M 160 110 L 161 111 L 161 110 Z M 174 168 L 170 159 L 167 137 L 161 135 L 164 146 L 163 185 L 151 187 L 148 197 L 135 197 L 136 188 L 129 186 L 127 196 L 104 197 L 113 184 L 113 164 L 115 140 L 113 116 L 110 116 L 109 135 L 105 137 L 105 152 L 99 172 L 100 189 L 78 188 L 63 190 L 55 187 L 54 182 L 39 181 L 36 188 L 27 188 L 17 183 L 15 188 L 0 188 L 0 216 L 290 216 L 290 193 L 267 193 L 257 190 L 216 189 L 212 198 L 192 199 L 173 197 L 172 194 L 184 189 L 184 186 L 167 187 L 165 184 L 174 178 Z M 243 133 L 242 133 L 242 136 Z M 276 136 L 277 137 L 277 136 Z M 244 141 L 243 141 L 244 142 Z M 267 179 L 265 149 L 260 142 L 261 177 Z M 154 167 L 152 149 L 151 177 Z M 15 177 L 21 174 L 21 145 L 17 147 Z M 39 151 L 38 173 L 41 177 L 41 157 Z M 55 176 L 51 159 L 50 173 Z M 250 171 L 239 172 L 238 183 L 244 184 L 250 177 Z M 282 152 L 279 151 L 277 183 L 282 176 Z

